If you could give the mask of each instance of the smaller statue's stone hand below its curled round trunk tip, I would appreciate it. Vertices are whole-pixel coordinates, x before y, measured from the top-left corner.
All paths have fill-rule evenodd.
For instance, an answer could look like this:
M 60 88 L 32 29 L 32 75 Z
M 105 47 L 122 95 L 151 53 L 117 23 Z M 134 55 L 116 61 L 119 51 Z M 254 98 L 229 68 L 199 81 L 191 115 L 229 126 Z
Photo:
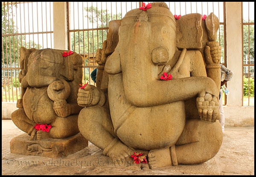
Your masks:
M 70 104 L 67 104 L 66 100 L 54 101 L 53 110 L 59 117 L 67 117 L 71 114 Z

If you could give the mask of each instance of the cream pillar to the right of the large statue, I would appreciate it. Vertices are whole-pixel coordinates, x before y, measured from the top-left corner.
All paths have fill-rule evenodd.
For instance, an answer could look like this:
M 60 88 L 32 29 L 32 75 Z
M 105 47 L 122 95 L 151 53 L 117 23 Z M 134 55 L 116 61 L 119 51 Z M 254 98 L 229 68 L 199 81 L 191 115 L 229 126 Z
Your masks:
M 241 2 L 226 2 L 227 68 L 233 71 L 232 80 L 227 82 L 227 106 L 231 107 L 242 105 L 241 25 Z

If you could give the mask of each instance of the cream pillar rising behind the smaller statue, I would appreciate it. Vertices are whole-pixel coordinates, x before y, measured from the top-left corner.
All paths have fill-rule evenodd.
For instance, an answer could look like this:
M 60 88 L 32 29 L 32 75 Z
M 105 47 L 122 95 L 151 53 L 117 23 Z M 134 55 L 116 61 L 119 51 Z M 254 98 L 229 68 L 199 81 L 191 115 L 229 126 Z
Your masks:
M 67 2 L 53 2 L 54 49 L 67 50 Z

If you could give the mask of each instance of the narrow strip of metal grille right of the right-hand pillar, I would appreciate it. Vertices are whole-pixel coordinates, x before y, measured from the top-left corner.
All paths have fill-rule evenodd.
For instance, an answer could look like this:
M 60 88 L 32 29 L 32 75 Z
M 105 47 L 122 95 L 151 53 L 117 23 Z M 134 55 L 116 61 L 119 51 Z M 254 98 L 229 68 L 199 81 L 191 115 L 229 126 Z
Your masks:
M 254 106 L 254 2 L 242 2 L 241 11 L 242 106 Z

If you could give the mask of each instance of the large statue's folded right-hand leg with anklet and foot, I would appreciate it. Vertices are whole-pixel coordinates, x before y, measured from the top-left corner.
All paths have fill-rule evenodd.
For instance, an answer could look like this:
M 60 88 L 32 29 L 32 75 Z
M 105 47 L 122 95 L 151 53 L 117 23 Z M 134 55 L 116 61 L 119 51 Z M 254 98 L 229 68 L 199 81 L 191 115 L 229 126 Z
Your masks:
M 148 153 L 151 169 L 178 164 L 204 163 L 214 157 L 222 142 L 221 126 L 215 123 L 188 119 L 175 146 L 155 149 Z

